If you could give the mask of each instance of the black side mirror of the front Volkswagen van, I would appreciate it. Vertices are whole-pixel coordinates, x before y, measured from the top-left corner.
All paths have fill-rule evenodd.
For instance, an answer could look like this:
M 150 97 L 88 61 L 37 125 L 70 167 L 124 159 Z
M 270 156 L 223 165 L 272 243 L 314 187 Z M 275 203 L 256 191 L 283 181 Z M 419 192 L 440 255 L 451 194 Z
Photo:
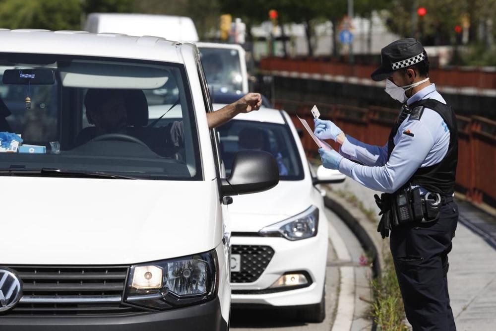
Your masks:
M 222 179 L 222 196 L 266 191 L 279 183 L 279 168 L 272 154 L 240 150 L 234 158 L 231 176 Z

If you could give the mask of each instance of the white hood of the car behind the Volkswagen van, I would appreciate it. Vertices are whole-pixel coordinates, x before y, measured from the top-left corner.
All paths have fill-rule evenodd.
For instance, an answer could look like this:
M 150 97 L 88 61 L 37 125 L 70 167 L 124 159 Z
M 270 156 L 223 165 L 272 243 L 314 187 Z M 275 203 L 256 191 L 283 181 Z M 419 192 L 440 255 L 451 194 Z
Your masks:
M 258 232 L 264 226 L 282 221 L 309 208 L 311 183 L 280 181 L 265 192 L 233 197 L 229 205 L 232 232 Z

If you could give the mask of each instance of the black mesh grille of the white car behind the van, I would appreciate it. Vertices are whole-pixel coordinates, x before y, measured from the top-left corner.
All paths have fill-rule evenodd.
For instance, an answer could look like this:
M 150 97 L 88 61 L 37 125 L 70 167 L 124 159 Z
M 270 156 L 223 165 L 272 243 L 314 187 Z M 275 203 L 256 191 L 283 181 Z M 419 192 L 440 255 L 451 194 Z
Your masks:
M 231 282 L 252 283 L 265 271 L 274 250 L 269 246 L 233 245 L 231 254 L 241 255 L 241 270 L 231 272 Z

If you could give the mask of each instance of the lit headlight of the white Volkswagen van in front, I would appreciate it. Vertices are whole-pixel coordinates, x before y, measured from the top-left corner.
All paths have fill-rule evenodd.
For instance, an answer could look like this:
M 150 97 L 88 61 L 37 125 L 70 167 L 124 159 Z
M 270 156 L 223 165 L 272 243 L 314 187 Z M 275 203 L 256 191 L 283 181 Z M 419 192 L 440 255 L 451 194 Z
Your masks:
M 171 309 L 208 301 L 216 292 L 214 251 L 131 265 L 124 301 L 152 309 Z

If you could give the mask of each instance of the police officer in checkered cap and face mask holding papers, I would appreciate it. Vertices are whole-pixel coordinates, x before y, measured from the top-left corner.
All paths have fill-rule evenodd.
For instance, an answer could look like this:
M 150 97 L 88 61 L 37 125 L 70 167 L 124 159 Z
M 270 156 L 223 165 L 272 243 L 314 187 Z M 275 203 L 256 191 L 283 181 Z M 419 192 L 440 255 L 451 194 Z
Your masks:
M 429 80 L 429 60 L 413 38 L 381 50 L 372 73 L 403 105 L 389 139 L 373 146 L 345 135 L 331 121 L 315 120 L 315 134 L 341 144 L 339 153 L 319 149 L 324 167 L 338 169 L 375 196 L 389 235 L 403 303 L 413 330 L 456 330 L 449 305 L 448 253 L 458 206 L 453 201 L 458 137 L 456 118 Z

